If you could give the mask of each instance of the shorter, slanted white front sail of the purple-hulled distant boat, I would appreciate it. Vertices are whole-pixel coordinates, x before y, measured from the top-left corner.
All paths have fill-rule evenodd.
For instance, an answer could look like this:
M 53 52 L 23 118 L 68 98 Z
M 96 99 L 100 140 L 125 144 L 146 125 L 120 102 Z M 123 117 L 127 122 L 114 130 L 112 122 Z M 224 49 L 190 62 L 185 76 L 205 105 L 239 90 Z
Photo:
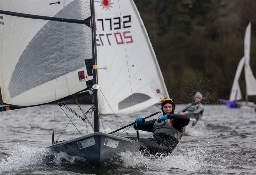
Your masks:
M 239 64 L 237 66 L 236 75 L 235 75 L 235 78 L 233 81 L 229 101 L 234 101 L 235 99 L 236 100 L 242 99 L 242 94 L 241 94 L 238 80 L 239 80 L 240 74 L 241 74 L 243 66 L 244 66 L 244 61 L 245 61 L 245 56 L 239 61 Z M 237 93 L 237 95 L 236 95 L 236 93 Z

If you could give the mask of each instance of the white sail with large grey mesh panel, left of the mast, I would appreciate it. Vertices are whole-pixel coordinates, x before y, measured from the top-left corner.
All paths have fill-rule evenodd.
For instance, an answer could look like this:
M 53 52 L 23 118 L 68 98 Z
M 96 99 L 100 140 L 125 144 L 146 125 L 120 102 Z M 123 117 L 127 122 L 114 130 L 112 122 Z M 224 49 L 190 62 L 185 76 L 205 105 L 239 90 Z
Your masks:
M 52 1 L 1 0 L 0 10 L 62 19 L 90 17 L 87 0 L 49 3 Z M 0 84 L 4 103 L 39 105 L 88 88 L 86 82 L 92 76 L 87 76 L 84 59 L 92 58 L 90 27 L 0 16 Z M 79 77 L 79 73 L 84 75 Z

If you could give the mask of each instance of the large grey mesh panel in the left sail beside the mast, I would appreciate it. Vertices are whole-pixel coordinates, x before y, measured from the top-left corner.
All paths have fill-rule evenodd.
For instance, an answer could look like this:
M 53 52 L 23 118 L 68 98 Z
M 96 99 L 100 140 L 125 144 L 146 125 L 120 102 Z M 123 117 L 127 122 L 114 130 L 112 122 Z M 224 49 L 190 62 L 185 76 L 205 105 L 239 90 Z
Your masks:
M 81 1 L 71 2 L 54 17 L 86 19 L 90 16 L 90 3 L 89 5 L 88 1 L 87 4 L 81 3 Z M 88 7 L 89 10 L 86 9 Z M 48 21 L 22 52 L 8 86 L 10 97 L 13 98 L 82 68 L 84 59 L 89 58 L 92 58 L 90 27 L 84 24 Z

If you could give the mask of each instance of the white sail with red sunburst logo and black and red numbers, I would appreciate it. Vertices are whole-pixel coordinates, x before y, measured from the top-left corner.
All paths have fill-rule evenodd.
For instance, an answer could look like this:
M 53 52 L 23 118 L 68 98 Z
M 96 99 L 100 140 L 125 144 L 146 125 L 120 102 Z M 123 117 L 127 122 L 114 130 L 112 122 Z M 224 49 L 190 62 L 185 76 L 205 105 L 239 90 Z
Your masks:
M 134 2 L 94 2 L 98 84 L 112 110 L 115 113 L 132 113 L 169 97 Z M 103 95 L 99 92 L 99 111 L 112 113 Z

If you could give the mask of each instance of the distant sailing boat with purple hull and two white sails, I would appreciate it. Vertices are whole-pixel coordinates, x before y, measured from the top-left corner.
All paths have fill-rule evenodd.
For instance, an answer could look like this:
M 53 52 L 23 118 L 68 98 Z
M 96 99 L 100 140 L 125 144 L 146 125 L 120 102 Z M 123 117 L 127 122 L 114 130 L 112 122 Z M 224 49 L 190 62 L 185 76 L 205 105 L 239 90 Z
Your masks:
M 244 57 L 239 61 L 236 69 L 236 75 L 233 81 L 229 100 L 220 99 L 222 103 L 225 103 L 229 108 L 236 108 L 240 106 L 256 107 L 255 103 L 248 102 L 248 96 L 256 95 L 256 79 L 252 74 L 250 67 L 250 43 L 251 43 L 251 23 L 248 24 L 244 36 Z M 245 102 L 237 101 L 242 99 L 241 90 L 239 87 L 239 77 L 244 66 L 245 82 L 246 82 L 246 94 Z

